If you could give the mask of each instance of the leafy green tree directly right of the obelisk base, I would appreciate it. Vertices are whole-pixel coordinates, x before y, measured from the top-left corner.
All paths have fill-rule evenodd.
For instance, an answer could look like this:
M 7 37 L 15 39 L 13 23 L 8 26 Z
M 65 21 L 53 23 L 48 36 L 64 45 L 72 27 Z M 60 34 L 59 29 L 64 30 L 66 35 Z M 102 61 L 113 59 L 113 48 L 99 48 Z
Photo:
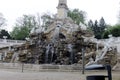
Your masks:
M 78 25 L 80 22 L 85 24 L 86 12 L 79 11 L 79 9 L 69 10 L 68 17 L 72 18 L 72 20 Z

